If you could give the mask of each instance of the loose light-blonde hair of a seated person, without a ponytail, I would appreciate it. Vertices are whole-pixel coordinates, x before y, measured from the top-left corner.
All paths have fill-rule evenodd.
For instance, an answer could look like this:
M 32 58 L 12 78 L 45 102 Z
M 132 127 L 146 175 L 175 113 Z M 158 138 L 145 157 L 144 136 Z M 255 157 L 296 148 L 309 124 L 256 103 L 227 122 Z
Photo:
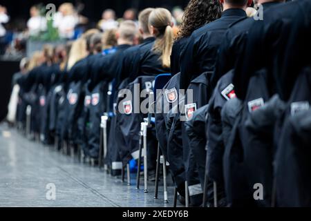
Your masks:
M 77 39 L 70 48 L 67 69 L 70 70 L 77 61 L 87 56 L 86 40 L 84 38 Z

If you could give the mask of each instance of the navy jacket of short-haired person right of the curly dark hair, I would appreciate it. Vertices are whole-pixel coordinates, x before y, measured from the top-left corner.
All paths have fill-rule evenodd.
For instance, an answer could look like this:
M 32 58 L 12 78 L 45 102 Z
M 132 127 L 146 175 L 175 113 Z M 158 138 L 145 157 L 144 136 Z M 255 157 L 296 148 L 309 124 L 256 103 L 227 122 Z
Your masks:
M 246 17 L 242 9 L 228 9 L 222 17 L 192 33 L 185 53 L 180 58 L 180 88 L 187 89 L 191 79 L 214 70 L 218 47 L 229 26 Z

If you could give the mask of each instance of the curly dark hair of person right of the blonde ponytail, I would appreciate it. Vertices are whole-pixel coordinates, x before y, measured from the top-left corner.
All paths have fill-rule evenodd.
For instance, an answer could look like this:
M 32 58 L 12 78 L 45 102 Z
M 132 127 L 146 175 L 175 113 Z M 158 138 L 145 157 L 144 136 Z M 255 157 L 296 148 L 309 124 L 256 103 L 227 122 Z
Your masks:
M 196 28 L 220 18 L 221 10 L 218 0 L 190 0 L 177 39 L 188 37 Z

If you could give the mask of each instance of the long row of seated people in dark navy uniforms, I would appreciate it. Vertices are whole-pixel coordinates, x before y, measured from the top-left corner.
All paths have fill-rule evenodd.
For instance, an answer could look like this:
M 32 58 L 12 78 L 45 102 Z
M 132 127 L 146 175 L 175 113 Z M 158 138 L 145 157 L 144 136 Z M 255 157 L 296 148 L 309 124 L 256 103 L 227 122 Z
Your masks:
M 37 104 L 50 104 L 49 111 L 38 111 L 58 125 L 41 128 L 54 129 L 59 147 L 67 140 L 93 159 L 100 153 L 100 117 L 113 113 L 106 160 L 117 174 L 137 151 L 145 117 L 131 108 L 127 114 L 113 110 L 120 89 L 133 90 L 133 82 L 144 88 L 171 73 L 157 97 L 169 113 L 156 113 L 155 128 L 149 129 L 149 170 L 158 141 L 178 193 L 190 197 L 192 206 L 310 206 L 311 4 L 258 0 L 261 19 L 247 17 L 251 4 L 191 0 L 175 41 L 164 8 L 140 13 L 144 40 L 137 46 L 138 28 L 131 21 L 118 28 L 117 46 L 104 52 L 95 49 L 98 32 L 86 33 L 64 62 L 68 73 L 46 60 L 20 81 L 21 97 L 33 105 L 37 95 Z M 188 91 L 180 96 L 179 89 Z M 41 93 L 46 99 L 51 93 L 50 102 Z M 183 110 L 176 113 L 176 106 Z M 33 110 L 32 115 L 39 117 Z

